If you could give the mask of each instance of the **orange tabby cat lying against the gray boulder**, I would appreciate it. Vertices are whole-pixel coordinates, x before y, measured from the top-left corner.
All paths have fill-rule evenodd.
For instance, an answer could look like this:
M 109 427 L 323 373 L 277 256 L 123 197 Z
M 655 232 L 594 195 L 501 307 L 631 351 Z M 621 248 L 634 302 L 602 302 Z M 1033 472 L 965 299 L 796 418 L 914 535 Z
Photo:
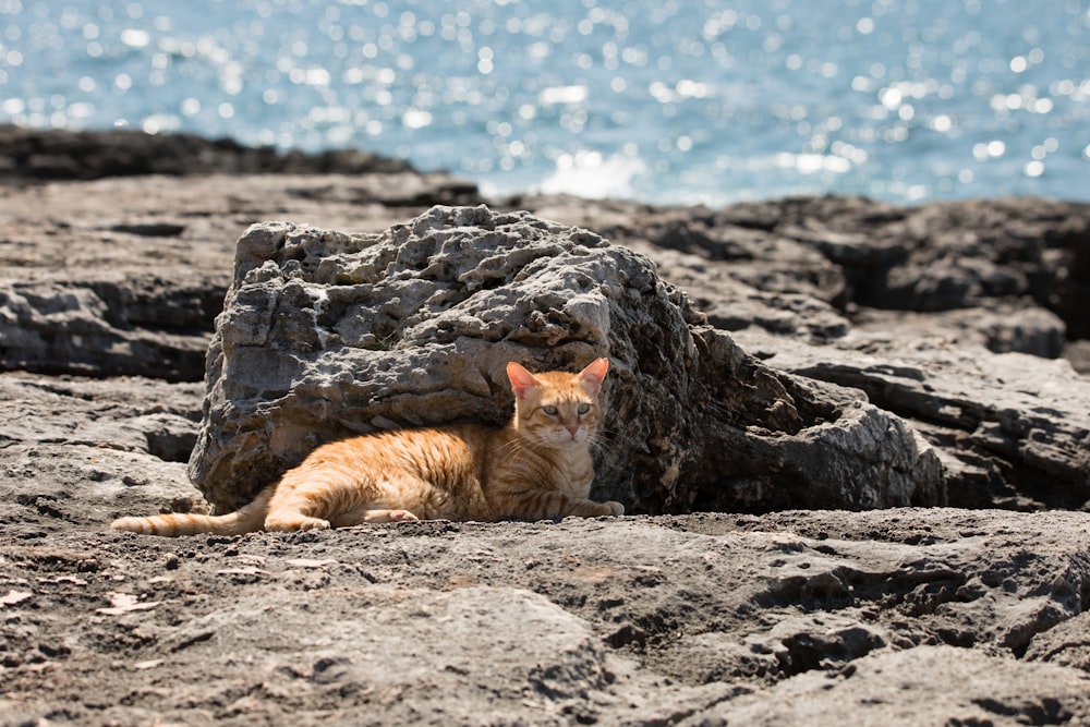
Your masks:
M 222 516 L 121 518 L 114 530 L 155 535 L 313 530 L 401 520 L 538 520 L 616 516 L 620 502 L 588 499 L 598 392 L 609 362 L 579 374 L 507 365 L 514 414 L 506 426 L 398 429 L 324 445 Z

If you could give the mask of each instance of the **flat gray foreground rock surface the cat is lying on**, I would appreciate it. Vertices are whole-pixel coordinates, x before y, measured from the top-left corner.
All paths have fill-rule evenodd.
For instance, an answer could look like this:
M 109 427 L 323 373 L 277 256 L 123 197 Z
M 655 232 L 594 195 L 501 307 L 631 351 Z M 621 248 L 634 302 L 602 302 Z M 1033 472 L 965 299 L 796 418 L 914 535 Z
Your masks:
M 1087 513 L 141 537 L 107 524 L 184 505 L 199 387 L 0 395 L 5 727 L 1090 722 Z

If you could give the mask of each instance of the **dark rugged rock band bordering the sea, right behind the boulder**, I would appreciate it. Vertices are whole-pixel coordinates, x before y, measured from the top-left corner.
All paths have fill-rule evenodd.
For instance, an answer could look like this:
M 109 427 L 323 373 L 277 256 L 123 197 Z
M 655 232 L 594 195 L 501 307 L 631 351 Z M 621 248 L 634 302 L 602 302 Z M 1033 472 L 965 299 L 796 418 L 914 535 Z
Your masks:
M 651 254 L 664 278 L 690 290 L 728 330 L 756 327 L 821 343 L 877 318 L 905 336 L 927 330 L 1050 358 L 1065 338 L 1090 337 L 1086 204 L 895 207 L 800 197 L 708 210 L 558 197 L 519 203 Z

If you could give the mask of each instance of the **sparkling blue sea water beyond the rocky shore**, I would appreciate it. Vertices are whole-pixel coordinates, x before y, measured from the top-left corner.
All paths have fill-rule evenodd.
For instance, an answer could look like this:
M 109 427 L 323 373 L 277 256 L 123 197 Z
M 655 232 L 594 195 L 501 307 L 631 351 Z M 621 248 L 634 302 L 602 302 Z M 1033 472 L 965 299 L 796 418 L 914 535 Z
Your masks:
M 0 121 L 493 194 L 1090 199 L 1090 1 L 0 0 Z

